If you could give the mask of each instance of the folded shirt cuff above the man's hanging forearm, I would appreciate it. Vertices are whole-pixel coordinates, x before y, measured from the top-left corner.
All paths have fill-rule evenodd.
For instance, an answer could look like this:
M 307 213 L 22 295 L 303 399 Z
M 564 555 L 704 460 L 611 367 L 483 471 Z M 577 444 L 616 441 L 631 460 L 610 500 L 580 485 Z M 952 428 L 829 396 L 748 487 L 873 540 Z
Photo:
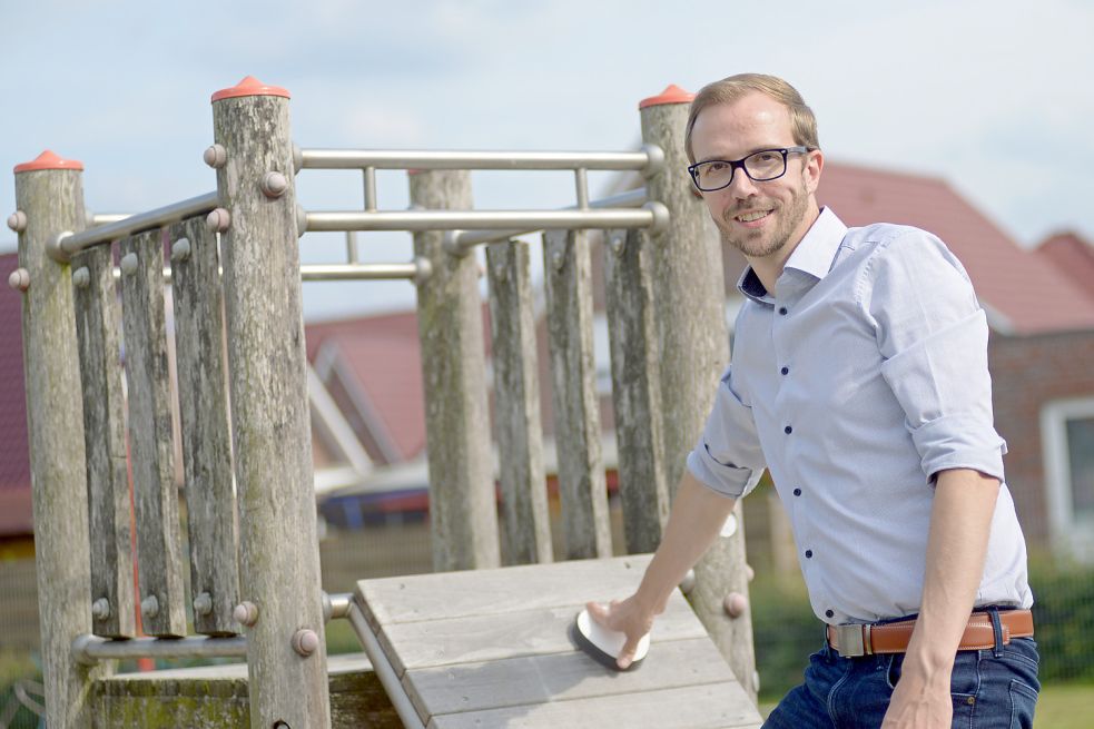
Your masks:
M 973 469 L 1003 481 L 1006 441 L 980 417 L 946 415 L 911 431 L 928 480 L 947 469 Z

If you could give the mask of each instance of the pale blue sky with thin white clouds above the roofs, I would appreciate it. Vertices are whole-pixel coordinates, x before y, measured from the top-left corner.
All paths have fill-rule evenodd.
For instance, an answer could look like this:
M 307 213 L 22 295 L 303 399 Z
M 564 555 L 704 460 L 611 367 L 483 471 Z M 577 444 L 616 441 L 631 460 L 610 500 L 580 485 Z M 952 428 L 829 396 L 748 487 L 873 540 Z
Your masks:
M 1019 245 L 1094 239 L 1094 2 L 919 0 L 0 0 L 0 207 L 43 149 L 83 162 L 96 213 L 211 191 L 209 97 L 245 76 L 292 93 L 304 148 L 629 150 L 639 100 L 741 71 L 789 80 L 828 160 L 944 178 Z M 592 194 L 604 177 L 590 179 Z M 564 173 L 475 173 L 483 209 L 574 200 Z M 382 209 L 407 205 L 381 173 Z M 361 177 L 305 170 L 309 210 L 358 208 Z M 838 210 L 837 210 L 838 213 Z M 0 252 L 16 236 L 0 229 Z M 362 234 L 403 263 L 405 234 Z M 344 238 L 308 234 L 309 263 Z M 306 284 L 309 319 L 413 306 L 406 282 Z

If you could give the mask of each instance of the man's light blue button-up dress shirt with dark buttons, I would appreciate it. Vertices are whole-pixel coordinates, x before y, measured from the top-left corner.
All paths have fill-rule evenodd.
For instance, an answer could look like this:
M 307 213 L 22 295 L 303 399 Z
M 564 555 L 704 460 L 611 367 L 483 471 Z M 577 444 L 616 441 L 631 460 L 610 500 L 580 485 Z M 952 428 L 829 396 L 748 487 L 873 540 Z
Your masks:
M 738 287 L 733 362 L 688 467 L 733 498 L 770 469 L 825 622 L 918 612 L 934 476 L 1003 481 L 987 321 L 965 269 L 928 233 L 848 229 L 826 208 L 773 292 L 751 268 Z M 1032 603 L 1003 484 L 975 604 Z

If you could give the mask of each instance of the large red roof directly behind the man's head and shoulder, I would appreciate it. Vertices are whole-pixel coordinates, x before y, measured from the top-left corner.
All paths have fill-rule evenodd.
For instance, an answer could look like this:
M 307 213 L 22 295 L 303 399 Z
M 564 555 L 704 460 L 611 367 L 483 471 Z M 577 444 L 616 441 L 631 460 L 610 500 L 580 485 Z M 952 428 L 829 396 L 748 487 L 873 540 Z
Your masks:
M 849 226 L 898 223 L 940 237 L 1004 333 L 1094 328 L 1087 289 L 1048 257 L 1021 248 L 942 179 L 827 164 L 817 199 Z

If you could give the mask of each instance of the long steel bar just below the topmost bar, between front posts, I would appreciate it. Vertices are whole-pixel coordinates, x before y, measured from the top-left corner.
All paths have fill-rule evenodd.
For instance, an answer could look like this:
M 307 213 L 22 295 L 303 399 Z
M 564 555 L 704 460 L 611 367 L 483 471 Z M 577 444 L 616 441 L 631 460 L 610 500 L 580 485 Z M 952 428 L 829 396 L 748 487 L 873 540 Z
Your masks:
M 648 228 L 651 210 L 381 210 L 307 213 L 305 230 L 490 230 L 568 228 Z

